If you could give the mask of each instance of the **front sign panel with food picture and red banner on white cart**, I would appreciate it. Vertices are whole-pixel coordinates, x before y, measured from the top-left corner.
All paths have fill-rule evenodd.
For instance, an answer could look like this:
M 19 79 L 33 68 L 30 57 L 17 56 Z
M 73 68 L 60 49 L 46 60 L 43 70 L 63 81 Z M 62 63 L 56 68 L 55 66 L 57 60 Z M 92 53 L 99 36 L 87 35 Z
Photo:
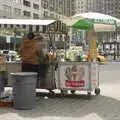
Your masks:
M 60 66 L 60 86 L 63 88 L 86 88 L 88 82 L 88 66 L 63 64 Z

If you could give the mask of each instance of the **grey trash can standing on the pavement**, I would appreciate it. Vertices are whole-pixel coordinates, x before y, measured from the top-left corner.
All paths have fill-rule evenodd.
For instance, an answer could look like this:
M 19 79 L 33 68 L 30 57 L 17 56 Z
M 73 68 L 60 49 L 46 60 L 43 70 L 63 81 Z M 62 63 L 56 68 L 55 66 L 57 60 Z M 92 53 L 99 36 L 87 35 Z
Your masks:
M 11 73 L 13 78 L 13 96 L 15 109 L 33 109 L 36 106 L 37 73 Z

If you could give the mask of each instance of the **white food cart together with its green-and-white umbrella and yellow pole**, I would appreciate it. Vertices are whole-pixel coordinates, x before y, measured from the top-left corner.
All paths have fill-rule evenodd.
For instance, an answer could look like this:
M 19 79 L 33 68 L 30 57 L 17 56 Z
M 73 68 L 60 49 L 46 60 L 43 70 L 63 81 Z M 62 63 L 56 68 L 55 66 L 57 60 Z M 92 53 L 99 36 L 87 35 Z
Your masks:
M 94 90 L 100 94 L 99 65 L 97 63 L 97 36 L 96 32 L 115 31 L 120 20 L 100 13 L 77 14 L 69 19 L 63 19 L 69 27 L 83 29 L 87 32 L 89 55 L 87 62 L 65 61 L 58 67 L 58 88 L 63 90 L 87 91 L 88 96 Z

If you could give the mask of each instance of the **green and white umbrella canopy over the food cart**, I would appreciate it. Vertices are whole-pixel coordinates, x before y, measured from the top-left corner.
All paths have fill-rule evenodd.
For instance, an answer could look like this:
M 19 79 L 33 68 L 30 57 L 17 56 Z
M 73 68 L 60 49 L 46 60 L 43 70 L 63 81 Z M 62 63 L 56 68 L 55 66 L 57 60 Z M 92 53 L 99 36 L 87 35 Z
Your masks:
M 100 31 L 115 31 L 117 27 L 120 27 L 120 20 L 110 15 L 101 13 L 88 12 L 83 14 L 76 14 L 69 19 L 62 20 L 67 26 L 91 30 L 96 32 Z

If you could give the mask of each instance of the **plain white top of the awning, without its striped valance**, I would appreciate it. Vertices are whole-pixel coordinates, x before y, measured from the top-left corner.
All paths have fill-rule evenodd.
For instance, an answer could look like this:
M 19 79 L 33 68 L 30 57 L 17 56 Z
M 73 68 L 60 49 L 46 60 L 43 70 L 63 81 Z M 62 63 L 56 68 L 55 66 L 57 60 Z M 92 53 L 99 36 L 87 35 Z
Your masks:
M 0 24 L 10 25 L 49 25 L 55 20 L 39 20 L 39 19 L 0 19 Z

